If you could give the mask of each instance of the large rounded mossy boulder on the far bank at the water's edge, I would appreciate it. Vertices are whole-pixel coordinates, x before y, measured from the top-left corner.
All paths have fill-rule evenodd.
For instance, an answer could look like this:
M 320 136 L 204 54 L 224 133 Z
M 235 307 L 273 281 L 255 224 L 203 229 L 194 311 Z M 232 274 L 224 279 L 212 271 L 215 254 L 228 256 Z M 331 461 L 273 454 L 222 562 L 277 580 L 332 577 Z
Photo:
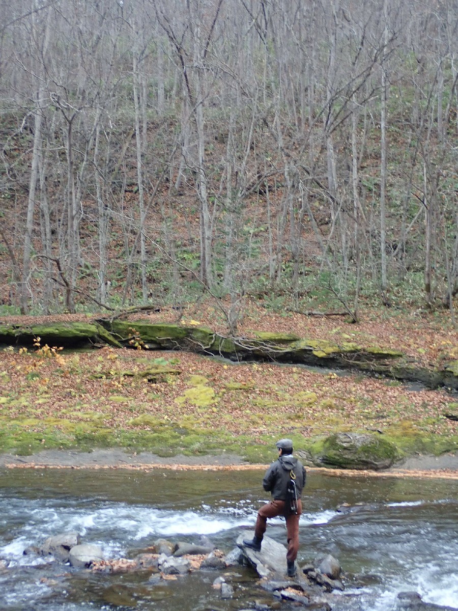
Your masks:
M 379 434 L 335 433 L 311 448 L 313 463 L 340 469 L 388 469 L 398 450 Z

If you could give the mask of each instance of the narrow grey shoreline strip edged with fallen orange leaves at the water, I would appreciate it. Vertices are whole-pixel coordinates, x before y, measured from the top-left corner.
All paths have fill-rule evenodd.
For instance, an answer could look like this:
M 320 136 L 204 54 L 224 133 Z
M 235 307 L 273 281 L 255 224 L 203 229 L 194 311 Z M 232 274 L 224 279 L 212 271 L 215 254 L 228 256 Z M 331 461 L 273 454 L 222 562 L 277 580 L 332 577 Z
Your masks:
M 272 460 L 274 456 L 272 456 Z M 208 456 L 177 455 L 169 458 L 149 452 L 126 453 L 123 450 L 43 450 L 30 456 L 0 455 L 0 469 L 129 469 L 129 470 L 251 470 L 265 469 L 265 464 L 250 464 L 234 454 Z M 428 477 L 458 479 L 458 453 L 442 456 L 412 456 L 402 464 L 384 471 L 327 469 L 307 466 L 309 472 L 330 477 Z

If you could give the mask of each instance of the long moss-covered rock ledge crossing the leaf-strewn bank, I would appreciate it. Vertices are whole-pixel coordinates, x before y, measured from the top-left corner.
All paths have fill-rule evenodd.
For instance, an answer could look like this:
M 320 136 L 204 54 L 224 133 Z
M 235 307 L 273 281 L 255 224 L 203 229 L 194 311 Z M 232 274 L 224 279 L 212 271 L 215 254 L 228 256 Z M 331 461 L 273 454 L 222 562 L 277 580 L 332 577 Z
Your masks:
M 254 338 L 224 337 L 208 327 L 98 319 L 90 323 L 54 323 L 21 326 L 0 325 L 0 343 L 32 345 L 35 338 L 50 346 L 100 346 L 156 350 L 187 350 L 225 356 L 231 360 L 269 360 L 282 363 L 365 371 L 368 375 L 388 376 L 401 381 L 418 381 L 428 387 L 445 386 L 458 390 L 458 362 L 426 368 L 401 351 L 340 344 L 294 334 L 256 332 Z

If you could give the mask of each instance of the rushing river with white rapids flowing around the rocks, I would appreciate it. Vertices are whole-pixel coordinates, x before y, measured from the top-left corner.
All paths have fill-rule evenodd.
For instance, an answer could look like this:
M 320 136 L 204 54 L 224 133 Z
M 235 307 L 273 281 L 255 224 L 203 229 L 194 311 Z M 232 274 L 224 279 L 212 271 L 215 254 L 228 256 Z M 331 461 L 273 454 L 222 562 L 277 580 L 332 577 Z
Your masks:
M 222 601 L 212 588 L 217 573 L 202 571 L 153 586 L 144 574 L 72 572 L 23 550 L 49 535 L 76 530 L 84 543 L 100 544 L 107 557 L 133 557 L 158 537 L 198 543 L 205 535 L 230 551 L 267 498 L 262 475 L 258 470 L 0 471 L 0 559 L 7 562 L 0 571 L 0 609 L 252 608 L 255 599 L 244 595 L 254 580 L 249 568 L 229 571 L 235 598 Z M 365 507 L 337 513 L 344 502 Z M 334 611 L 390 611 L 397 593 L 405 590 L 417 591 L 427 602 L 458 607 L 456 480 L 311 473 L 303 507 L 299 563 L 325 552 L 345 571 L 346 590 L 335 598 Z M 285 543 L 284 522 L 271 521 L 267 534 Z

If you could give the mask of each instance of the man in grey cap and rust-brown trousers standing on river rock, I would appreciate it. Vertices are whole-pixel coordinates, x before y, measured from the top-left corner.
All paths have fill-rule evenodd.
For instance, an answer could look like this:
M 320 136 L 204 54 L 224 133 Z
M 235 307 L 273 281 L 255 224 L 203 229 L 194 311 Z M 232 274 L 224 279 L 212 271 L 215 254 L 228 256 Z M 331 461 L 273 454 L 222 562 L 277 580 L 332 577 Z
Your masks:
M 288 533 L 288 577 L 294 577 L 297 572 L 295 561 L 299 550 L 299 516 L 302 513 L 300 495 L 305 485 L 305 469 L 293 456 L 291 439 L 280 439 L 275 445 L 278 448 L 278 459 L 267 469 L 263 479 L 263 488 L 272 493 L 272 500 L 258 511 L 253 540 L 244 540 L 243 543 L 260 552 L 267 518 L 284 516 Z

